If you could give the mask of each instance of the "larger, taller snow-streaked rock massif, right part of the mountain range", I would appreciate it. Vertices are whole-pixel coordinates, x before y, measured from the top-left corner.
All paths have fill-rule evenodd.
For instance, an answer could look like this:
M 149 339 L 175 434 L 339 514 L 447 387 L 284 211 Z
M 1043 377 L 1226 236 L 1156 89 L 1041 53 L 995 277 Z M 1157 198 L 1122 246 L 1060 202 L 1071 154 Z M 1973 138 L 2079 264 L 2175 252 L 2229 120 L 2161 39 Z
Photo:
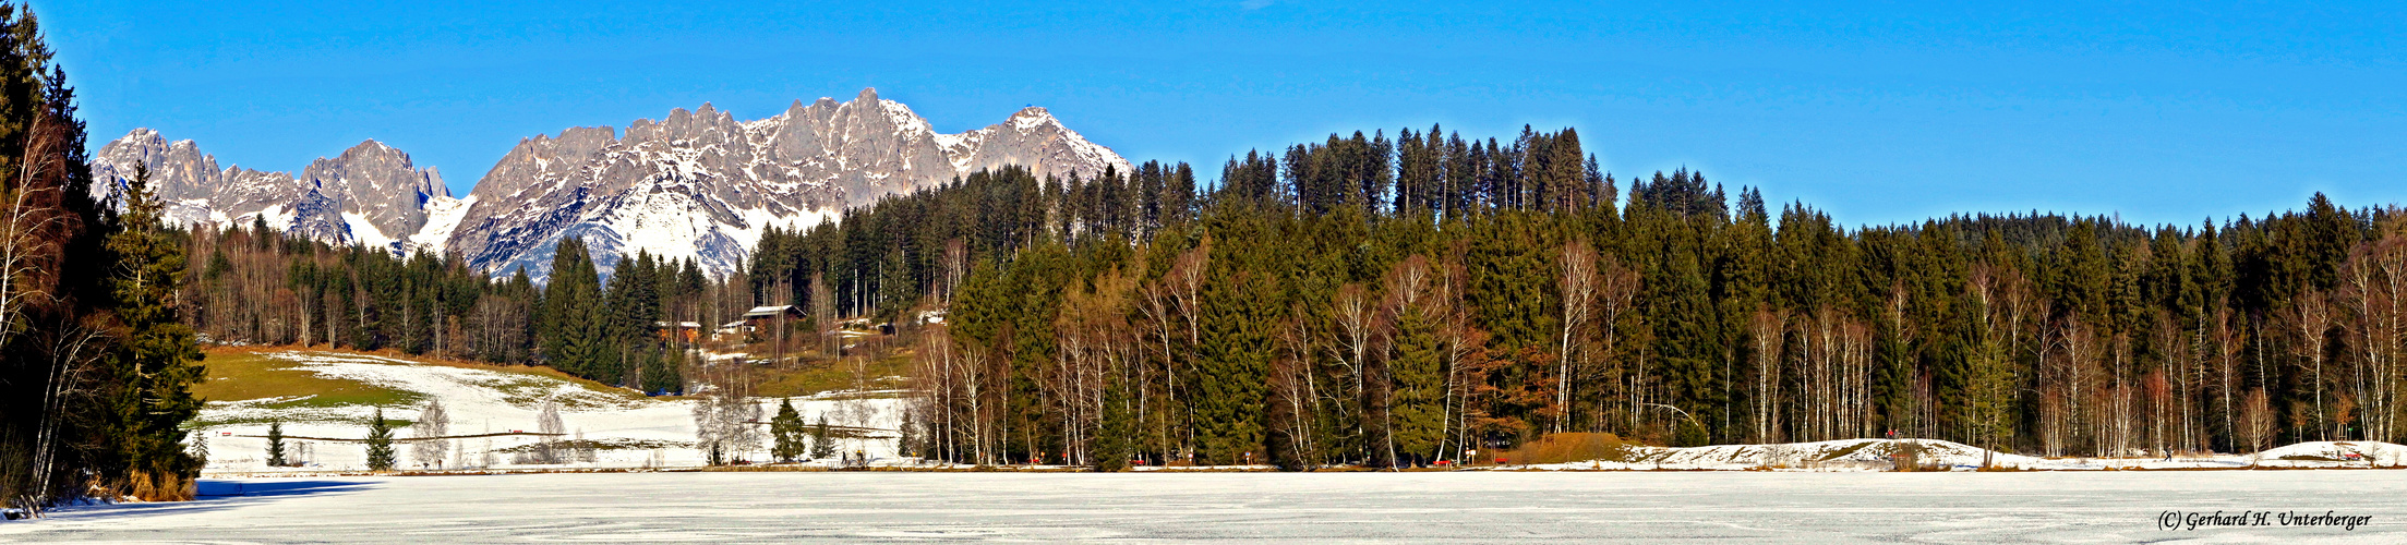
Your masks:
M 602 269 L 645 250 L 729 274 L 773 226 L 814 226 L 845 206 L 1001 166 L 1064 178 L 1129 170 L 1045 108 L 941 134 L 876 89 L 847 103 L 794 101 L 751 122 L 705 103 L 635 120 L 626 137 L 575 127 L 522 139 L 469 192 L 445 247 L 469 266 L 537 279 L 549 276 L 561 238 L 582 238 Z

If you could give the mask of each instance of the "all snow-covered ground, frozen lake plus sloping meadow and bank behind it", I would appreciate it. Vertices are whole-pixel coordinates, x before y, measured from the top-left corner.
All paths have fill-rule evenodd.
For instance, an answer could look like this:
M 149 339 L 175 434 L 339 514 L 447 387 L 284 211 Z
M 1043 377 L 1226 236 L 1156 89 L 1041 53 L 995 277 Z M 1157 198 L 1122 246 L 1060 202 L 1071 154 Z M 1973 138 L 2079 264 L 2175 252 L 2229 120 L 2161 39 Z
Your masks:
M 534 430 L 558 403 L 595 461 L 484 461 L 534 437 L 457 439 L 448 468 L 505 475 L 356 475 L 356 442 L 291 439 L 303 468 L 265 468 L 267 420 L 291 437 L 361 437 L 368 406 L 209 403 L 202 499 L 65 507 L 0 523 L 5 543 L 862 543 L 862 540 L 1608 540 L 1608 543 L 2383 543 L 2407 538 L 2407 447 L 2311 442 L 2255 456 L 2034 459 L 1930 439 L 1630 447 L 1625 461 L 1449 473 L 763 473 L 703 466 L 693 399 L 645 399 L 539 372 L 286 351 L 311 377 L 371 384 L 450 413 L 450 435 Z M 325 401 L 325 399 L 318 399 Z M 895 391 L 794 399 L 806 420 L 895 427 Z M 775 399 L 763 401 L 763 418 Z M 407 437 L 407 430 L 400 432 Z M 301 447 L 311 444 L 311 447 Z M 1889 454 L 1947 473 L 1885 473 Z M 893 463 L 886 439 L 859 442 Z M 761 459 L 765 454 L 753 454 Z M 407 447 L 404 447 L 407 459 Z M 1993 461 L 2007 473 L 1974 473 Z M 2161 468 L 2316 471 L 2161 471 Z M 626 473 L 510 473 L 628 468 Z M 2159 471 L 2109 471 L 2159 468 Z M 2371 516 L 2359 528 L 2161 528 L 2171 514 Z

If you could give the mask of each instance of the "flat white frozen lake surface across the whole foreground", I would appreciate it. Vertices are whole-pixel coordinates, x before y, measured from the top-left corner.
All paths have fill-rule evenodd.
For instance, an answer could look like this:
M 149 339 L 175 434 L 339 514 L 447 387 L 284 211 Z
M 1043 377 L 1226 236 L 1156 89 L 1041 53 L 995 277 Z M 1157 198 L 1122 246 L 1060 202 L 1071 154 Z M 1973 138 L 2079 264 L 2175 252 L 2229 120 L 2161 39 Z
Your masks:
M 231 492 L 243 495 L 231 495 Z M 599 473 L 207 480 L 183 504 L 0 523 L 12 543 L 2400 543 L 2402 471 Z M 2161 531 L 2164 511 L 2342 528 Z

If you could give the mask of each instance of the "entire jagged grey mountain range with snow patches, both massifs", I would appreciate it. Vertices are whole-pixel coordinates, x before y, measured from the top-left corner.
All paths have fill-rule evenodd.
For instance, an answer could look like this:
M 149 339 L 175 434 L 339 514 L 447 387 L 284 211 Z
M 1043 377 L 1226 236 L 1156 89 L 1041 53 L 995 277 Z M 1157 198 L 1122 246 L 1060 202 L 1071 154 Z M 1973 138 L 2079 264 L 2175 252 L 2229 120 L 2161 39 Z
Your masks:
M 149 163 L 152 185 L 176 223 L 265 221 L 286 233 L 366 242 L 395 252 L 455 252 L 491 274 L 544 279 L 554 247 L 580 238 L 602 269 L 621 254 L 693 257 L 712 274 L 749 259 L 768 228 L 842 216 L 845 206 L 932 187 L 982 168 L 1025 166 L 1037 175 L 1100 175 L 1129 161 L 1061 127 L 1045 108 L 944 134 L 898 101 L 862 89 L 852 101 L 794 101 L 785 113 L 739 122 L 703 103 L 664 120 L 570 127 L 520 139 L 465 199 L 433 168 L 363 142 L 318 158 L 301 175 L 219 168 L 190 139 L 135 130 L 101 146 L 99 180 L 132 178 Z

